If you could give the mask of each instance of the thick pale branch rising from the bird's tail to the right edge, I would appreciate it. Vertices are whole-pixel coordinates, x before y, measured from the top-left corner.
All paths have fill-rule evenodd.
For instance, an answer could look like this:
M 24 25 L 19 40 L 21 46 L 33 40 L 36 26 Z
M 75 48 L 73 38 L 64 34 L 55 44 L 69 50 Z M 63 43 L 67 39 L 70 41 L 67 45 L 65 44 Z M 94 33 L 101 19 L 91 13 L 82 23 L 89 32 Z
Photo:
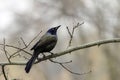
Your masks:
M 120 38 L 99 40 L 99 41 L 92 42 L 92 43 L 87 43 L 87 44 L 84 44 L 84 45 L 78 45 L 78 46 L 75 46 L 75 47 L 71 47 L 71 48 L 69 48 L 65 51 L 62 51 L 62 52 L 59 52 L 59 53 L 56 53 L 56 54 L 53 54 L 53 55 L 48 55 L 44 58 L 40 58 L 38 61 L 35 62 L 35 64 L 38 63 L 38 62 L 44 61 L 44 60 L 48 60 L 48 59 L 51 59 L 51 58 L 56 58 L 56 57 L 68 54 L 68 53 L 73 52 L 73 51 L 77 51 L 77 50 L 80 50 L 80 49 L 85 49 L 85 48 L 89 48 L 89 47 L 93 47 L 93 46 L 97 46 L 97 45 L 100 46 L 102 44 L 108 44 L 108 43 L 118 43 L 118 42 L 120 42 Z

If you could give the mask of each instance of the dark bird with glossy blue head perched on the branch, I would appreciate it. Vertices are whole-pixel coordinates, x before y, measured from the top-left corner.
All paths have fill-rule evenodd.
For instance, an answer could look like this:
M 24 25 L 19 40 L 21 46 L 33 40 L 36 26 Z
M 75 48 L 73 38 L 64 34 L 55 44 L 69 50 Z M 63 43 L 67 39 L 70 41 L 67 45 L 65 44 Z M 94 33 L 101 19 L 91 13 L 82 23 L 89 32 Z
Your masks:
M 57 27 L 50 28 L 41 38 L 40 40 L 31 48 L 34 50 L 32 57 L 26 63 L 25 71 L 26 73 L 30 72 L 30 69 L 38 58 L 40 53 L 50 52 L 57 43 L 57 30 L 61 25 Z

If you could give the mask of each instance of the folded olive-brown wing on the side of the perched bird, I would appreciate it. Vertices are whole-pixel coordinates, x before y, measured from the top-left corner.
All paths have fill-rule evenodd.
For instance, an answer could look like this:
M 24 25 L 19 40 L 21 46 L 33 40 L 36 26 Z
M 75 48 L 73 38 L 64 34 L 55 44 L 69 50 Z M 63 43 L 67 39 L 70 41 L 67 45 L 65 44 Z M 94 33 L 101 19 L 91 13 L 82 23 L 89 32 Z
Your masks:
M 57 42 L 55 35 L 45 34 L 41 39 L 31 48 L 31 50 L 36 49 L 41 46 L 49 45 L 52 42 Z

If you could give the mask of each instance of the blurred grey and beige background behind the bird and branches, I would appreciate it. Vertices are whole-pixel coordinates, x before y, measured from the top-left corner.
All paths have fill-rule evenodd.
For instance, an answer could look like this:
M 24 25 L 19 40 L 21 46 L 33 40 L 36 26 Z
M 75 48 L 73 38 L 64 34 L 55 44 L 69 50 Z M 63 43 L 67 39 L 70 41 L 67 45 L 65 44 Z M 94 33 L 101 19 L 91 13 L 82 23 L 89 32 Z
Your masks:
M 62 25 L 58 30 L 58 43 L 54 53 L 67 49 L 70 40 L 66 26 L 72 30 L 78 22 L 84 22 L 75 30 L 72 46 L 82 45 L 102 39 L 120 37 L 120 1 L 119 0 L 0 0 L 0 43 L 24 47 L 20 37 L 29 43 L 40 31 L 42 33 L 29 46 L 27 51 L 49 28 Z M 7 62 L 0 46 L 0 62 Z M 120 45 L 111 43 L 72 52 L 54 60 L 65 62 L 71 71 L 85 75 L 74 75 L 60 65 L 44 61 L 34 65 L 29 74 L 25 66 L 7 66 L 9 80 L 119 80 Z M 16 50 L 7 48 L 9 54 Z M 30 58 L 29 55 L 20 52 Z M 47 53 L 46 53 L 47 54 Z M 26 62 L 22 56 L 12 59 L 14 62 Z M 0 74 L 1 74 L 0 69 Z M 4 80 L 0 75 L 0 80 Z

